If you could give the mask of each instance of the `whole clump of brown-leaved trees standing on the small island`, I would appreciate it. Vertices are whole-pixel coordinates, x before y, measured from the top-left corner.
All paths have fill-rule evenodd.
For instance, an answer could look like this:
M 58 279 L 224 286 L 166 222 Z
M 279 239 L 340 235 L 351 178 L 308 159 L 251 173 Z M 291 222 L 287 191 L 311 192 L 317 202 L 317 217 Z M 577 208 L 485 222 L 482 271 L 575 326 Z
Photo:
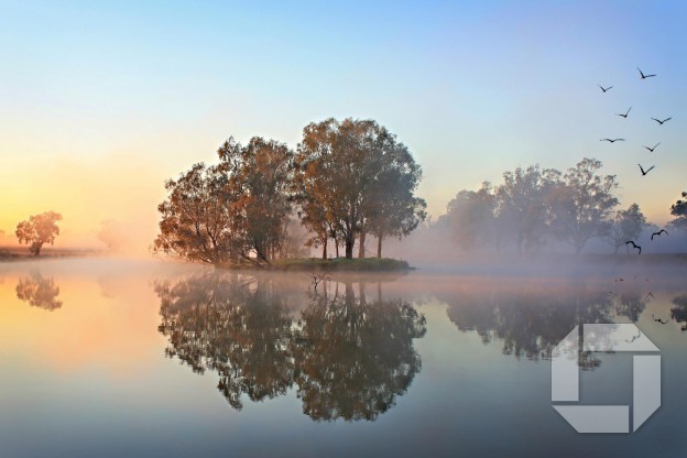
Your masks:
M 381 258 L 384 238 L 407 236 L 426 216 L 415 196 L 419 165 L 372 120 L 310 123 L 295 151 L 260 137 L 247 145 L 230 138 L 218 156 L 218 164 L 195 164 L 165 183 L 156 252 L 269 264 L 302 253 L 293 240 L 297 219 L 308 231 L 303 242 L 321 248 L 323 258 L 330 241 L 349 259 L 358 242 L 363 258 L 369 235 Z

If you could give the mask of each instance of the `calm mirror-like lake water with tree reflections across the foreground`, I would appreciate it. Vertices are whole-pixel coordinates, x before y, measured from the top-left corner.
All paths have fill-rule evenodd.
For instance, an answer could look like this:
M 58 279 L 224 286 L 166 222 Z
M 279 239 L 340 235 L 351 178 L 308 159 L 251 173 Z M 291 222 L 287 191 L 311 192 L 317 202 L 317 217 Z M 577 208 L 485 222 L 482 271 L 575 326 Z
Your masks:
M 586 276 L 315 290 L 304 274 L 0 264 L 0 456 L 686 456 L 687 275 Z M 661 348 L 663 405 L 636 433 L 580 435 L 552 408 L 550 350 L 579 323 L 636 323 Z M 630 355 L 582 366 L 582 403 L 631 404 Z

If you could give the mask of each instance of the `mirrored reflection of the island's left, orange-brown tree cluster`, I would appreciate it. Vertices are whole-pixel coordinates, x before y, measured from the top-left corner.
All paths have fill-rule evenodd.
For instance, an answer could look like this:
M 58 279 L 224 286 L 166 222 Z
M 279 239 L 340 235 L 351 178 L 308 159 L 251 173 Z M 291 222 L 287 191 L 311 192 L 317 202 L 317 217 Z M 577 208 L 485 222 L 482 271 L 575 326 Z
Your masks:
M 291 319 L 273 282 L 207 275 L 157 284 L 165 352 L 194 372 L 215 370 L 218 389 L 241 410 L 241 394 L 262 401 L 292 385 Z

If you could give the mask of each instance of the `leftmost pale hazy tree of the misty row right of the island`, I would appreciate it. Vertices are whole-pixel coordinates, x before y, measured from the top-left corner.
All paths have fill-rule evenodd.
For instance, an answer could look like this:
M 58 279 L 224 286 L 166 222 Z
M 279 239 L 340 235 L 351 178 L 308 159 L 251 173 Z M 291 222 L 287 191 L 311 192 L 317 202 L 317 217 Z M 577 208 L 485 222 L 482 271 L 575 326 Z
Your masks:
M 446 210 L 454 239 L 464 251 L 471 251 L 493 236 L 495 198 L 489 183 L 482 183 L 477 192 L 459 192 Z

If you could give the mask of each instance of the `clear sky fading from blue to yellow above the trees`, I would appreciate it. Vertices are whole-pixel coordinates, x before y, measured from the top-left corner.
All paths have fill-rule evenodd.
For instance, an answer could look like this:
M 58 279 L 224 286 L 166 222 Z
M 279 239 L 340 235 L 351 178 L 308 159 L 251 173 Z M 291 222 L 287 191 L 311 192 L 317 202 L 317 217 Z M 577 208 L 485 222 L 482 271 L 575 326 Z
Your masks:
M 663 225 L 687 189 L 685 23 L 680 1 L 0 0 L 0 246 L 55 210 L 57 244 L 116 220 L 145 252 L 165 179 L 329 117 L 408 145 L 434 218 L 506 170 L 596 157 Z

